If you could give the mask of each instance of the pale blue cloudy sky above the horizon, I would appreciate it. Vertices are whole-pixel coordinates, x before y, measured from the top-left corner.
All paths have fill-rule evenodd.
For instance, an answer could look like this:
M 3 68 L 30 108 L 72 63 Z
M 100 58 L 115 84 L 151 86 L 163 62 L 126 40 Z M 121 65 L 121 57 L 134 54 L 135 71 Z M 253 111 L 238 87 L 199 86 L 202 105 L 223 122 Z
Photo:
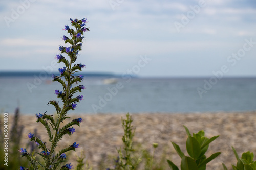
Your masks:
M 256 76 L 254 0 L 0 2 L 0 71 L 57 71 L 62 30 L 87 18 L 77 63 L 144 77 Z

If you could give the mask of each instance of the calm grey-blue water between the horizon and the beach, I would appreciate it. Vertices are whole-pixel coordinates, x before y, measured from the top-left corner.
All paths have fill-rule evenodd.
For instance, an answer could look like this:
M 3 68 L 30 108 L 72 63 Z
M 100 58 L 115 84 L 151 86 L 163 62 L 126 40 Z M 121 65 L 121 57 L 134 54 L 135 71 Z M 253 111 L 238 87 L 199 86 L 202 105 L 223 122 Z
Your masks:
M 51 80 L 34 82 L 31 77 L 0 77 L 1 112 L 13 113 L 19 106 L 22 114 L 55 113 L 55 108 L 47 103 L 59 100 L 54 90 L 61 91 L 62 87 Z M 209 79 L 117 80 L 118 84 L 104 84 L 103 78 L 83 81 L 86 89 L 78 95 L 83 95 L 84 100 L 70 113 L 256 110 L 256 78 L 221 79 L 210 89 L 205 85 Z M 198 87 L 205 90 L 201 97 Z

